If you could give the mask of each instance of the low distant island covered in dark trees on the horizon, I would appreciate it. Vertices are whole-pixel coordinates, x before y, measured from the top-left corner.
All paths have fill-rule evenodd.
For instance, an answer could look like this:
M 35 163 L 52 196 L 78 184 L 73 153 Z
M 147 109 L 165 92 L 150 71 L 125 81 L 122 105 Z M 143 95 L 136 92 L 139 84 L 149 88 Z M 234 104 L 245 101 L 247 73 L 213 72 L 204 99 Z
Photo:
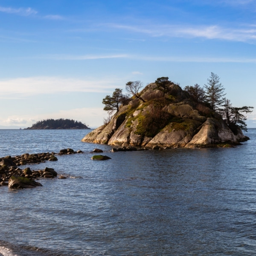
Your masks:
M 46 119 L 33 124 L 25 130 L 43 130 L 43 129 L 90 129 L 82 122 L 73 119 Z

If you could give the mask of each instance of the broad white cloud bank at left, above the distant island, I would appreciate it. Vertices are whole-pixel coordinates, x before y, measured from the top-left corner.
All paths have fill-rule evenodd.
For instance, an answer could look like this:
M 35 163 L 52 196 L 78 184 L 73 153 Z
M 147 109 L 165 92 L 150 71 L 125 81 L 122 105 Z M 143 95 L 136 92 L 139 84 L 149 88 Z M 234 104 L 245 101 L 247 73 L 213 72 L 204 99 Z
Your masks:
M 21 97 L 35 94 L 53 94 L 60 92 L 108 92 L 122 83 L 116 78 L 73 79 L 59 77 L 25 77 L 0 80 L 2 98 L 20 94 Z

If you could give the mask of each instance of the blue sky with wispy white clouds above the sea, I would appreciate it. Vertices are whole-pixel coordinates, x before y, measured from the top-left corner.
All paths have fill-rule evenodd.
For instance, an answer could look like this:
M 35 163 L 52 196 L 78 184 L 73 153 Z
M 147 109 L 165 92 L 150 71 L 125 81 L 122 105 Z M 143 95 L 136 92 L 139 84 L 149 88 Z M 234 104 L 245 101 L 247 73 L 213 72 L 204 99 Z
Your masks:
M 211 72 L 233 106 L 256 107 L 256 1 L 0 0 L 0 56 L 5 126 L 95 128 L 127 81 L 204 86 Z M 248 119 L 256 127 L 256 110 Z

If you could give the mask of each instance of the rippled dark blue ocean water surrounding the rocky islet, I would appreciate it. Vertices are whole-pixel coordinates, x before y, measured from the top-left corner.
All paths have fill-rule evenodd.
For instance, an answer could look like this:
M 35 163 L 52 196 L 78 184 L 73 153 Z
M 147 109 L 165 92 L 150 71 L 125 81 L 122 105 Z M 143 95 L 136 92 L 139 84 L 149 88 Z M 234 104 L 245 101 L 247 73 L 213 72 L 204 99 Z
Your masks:
M 0 130 L 0 157 L 84 151 L 29 165 L 67 179 L 0 187 L 0 255 L 255 255 L 255 129 L 236 148 L 116 153 L 87 132 Z M 112 159 L 90 160 L 96 147 Z

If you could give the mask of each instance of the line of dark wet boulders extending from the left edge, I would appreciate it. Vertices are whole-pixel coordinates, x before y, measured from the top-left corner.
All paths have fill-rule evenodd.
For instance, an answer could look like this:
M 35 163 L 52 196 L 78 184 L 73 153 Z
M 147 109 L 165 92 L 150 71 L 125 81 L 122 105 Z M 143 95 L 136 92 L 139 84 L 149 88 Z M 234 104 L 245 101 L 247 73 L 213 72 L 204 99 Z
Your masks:
M 31 170 L 29 167 L 20 169 L 19 166 L 27 164 L 45 163 L 46 161 L 57 161 L 55 156 L 63 154 L 79 154 L 83 151 L 74 151 L 72 148 L 61 149 L 59 153 L 39 153 L 39 154 L 22 154 L 15 157 L 6 156 L 0 158 L 0 186 L 9 186 L 9 188 L 29 188 L 42 186 L 41 183 L 35 180 L 43 178 L 57 177 L 57 172 L 53 168 L 46 167 L 44 170 Z M 66 178 L 59 175 L 58 178 Z

